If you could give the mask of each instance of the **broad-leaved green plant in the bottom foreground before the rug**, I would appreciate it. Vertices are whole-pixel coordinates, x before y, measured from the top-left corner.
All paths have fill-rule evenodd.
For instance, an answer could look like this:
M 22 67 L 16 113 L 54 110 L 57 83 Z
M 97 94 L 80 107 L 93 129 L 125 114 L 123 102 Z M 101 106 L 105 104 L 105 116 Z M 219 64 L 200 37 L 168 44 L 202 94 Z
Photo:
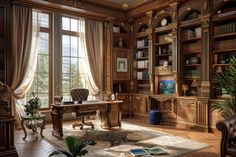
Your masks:
M 84 140 L 79 141 L 73 136 L 68 136 L 65 138 L 66 146 L 68 151 L 65 150 L 56 150 L 52 152 L 49 157 L 57 156 L 64 154 L 66 157 L 77 157 L 83 156 L 88 153 L 86 149 L 84 149 L 87 145 L 94 146 L 96 142 L 93 140 Z

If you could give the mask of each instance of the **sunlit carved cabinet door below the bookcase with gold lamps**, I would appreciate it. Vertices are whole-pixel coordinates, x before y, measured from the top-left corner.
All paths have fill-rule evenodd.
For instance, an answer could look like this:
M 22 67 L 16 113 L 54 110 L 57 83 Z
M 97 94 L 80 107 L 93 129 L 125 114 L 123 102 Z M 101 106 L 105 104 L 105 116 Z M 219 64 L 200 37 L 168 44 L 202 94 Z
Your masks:
M 177 120 L 196 123 L 196 101 L 195 100 L 178 100 L 177 101 Z

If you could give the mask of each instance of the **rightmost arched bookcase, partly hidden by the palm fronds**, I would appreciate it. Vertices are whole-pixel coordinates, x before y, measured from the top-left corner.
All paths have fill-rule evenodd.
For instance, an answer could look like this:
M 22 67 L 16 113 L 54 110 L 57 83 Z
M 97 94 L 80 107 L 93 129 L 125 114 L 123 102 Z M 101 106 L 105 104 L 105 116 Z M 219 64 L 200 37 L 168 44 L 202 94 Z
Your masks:
M 224 73 L 232 57 L 236 57 L 236 3 L 228 3 L 219 8 L 212 18 L 212 75 Z M 212 83 L 212 95 L 215 98 L 228 96 L 224 89 L 215 89 Z

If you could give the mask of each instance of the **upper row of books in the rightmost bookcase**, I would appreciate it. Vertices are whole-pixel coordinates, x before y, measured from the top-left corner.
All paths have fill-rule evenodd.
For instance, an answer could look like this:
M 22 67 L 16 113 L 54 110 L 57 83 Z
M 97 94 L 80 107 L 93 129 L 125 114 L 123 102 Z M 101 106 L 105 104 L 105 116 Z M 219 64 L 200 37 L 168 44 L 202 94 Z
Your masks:
M 216 26 L 214 29 L 215 35 L 236 32 L 236 22 L 231 22 L 223 25 Z

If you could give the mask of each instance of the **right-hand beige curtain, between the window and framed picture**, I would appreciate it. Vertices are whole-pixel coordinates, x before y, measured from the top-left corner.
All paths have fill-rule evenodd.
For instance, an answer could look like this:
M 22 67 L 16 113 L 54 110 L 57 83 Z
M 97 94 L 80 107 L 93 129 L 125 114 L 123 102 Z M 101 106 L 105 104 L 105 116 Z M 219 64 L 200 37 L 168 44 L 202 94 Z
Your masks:
M 92 94 L 99 95 L 103 82 L 103 23 L 85 19 L 85 40 L 87 48 L 87 62 L 96 87 L 92 87 Z M 90 79 L 91 80 L 91 79 Z

